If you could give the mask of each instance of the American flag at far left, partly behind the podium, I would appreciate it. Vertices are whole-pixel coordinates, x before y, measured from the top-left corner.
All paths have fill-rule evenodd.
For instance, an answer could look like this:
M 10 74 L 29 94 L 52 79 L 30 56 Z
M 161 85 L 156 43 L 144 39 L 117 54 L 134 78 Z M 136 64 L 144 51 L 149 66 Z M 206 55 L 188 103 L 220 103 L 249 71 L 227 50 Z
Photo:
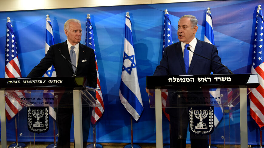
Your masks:
M 16 40 L 10 18 L 6 23 L 6 44 L 5 44 L 5 77 L 21 77 L 20 64 L 16 51 Z M 21 95 L 20 92 L 18 95 Z M 18 96 L 16 95 L 16 96 Z M 5 96 L 5 115 L 8 120 L 12 119 L 22 106 L 16 101 L 16 97 Z

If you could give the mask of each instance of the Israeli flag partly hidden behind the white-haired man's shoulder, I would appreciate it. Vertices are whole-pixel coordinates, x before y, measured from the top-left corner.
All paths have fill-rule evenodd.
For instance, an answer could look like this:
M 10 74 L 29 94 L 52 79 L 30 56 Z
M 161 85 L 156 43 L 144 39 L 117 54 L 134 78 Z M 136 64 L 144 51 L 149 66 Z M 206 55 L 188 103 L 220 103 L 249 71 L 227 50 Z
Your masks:
M 49 50 L 49 47 L 54 44 L 54 37 L 53 37 L 53 29 L 50 22 L 49 15 L 47 15 L 46 18 L 46 44 L 45 44 L 45 55 L 47 54 L 47 51 Z M 44 74 L 44 77 L 56 77 L 56 72 L 54 69 L 54 66 L 51 65 L 49 69 Z

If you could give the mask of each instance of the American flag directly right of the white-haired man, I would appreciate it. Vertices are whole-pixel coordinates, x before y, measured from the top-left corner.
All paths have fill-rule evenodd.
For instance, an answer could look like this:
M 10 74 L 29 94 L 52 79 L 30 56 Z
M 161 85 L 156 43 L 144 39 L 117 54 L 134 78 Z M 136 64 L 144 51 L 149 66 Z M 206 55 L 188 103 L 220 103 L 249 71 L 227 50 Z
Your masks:
M 90 14 L 87 15 L 86 18 L 86 38 L 85 38 L 85 45 L 92 48 L 95 55 L 95 64 L 96 64 L 96 72 L 97 72 L 97 87 L 100 88 L 100 79 L 99 79 L 99 73 L 98 73 L 98 65 L 97 65 L 97 59 L 96 59 L 96 52 L 94 47 L 94 38 L 93 38 L 93 26 L 91 23 Z M 97 120 L 102 117 L 102 114 L 104 112 L 104 104 L 103 104 L 103 96 L 101 91 L 96 91 L 96 106 L 100 105 L 100 107 L 94 107 L 91 117 L 91 122 L 94 124 Z

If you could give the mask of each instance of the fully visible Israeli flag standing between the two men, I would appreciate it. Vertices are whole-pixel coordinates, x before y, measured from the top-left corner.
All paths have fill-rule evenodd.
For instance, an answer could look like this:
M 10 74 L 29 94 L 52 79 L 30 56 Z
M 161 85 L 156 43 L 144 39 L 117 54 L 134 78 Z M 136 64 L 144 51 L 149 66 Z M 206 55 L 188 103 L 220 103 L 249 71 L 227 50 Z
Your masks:
M 119 97 L 124 107 L 137 121 L 143 111 L 143 103 L 137 78 L 131 21 L 128 14 L 126 16 L 124 56 Z

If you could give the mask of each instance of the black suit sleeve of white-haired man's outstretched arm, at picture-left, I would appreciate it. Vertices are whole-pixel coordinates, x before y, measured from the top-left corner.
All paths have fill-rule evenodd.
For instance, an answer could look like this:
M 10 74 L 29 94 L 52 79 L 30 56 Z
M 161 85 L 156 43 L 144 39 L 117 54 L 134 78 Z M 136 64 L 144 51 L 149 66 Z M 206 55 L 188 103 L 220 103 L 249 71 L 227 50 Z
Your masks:
M 54 62 L 54 52 L 51 46 L 49 47 L 49 50 L 47 51 L 45 57 L 41 59 L 39 64 L 30 71 L 27 77 L 42 77 L 43 74 L 45 74 L 45 72 L 53 64 L 53 62 Z

